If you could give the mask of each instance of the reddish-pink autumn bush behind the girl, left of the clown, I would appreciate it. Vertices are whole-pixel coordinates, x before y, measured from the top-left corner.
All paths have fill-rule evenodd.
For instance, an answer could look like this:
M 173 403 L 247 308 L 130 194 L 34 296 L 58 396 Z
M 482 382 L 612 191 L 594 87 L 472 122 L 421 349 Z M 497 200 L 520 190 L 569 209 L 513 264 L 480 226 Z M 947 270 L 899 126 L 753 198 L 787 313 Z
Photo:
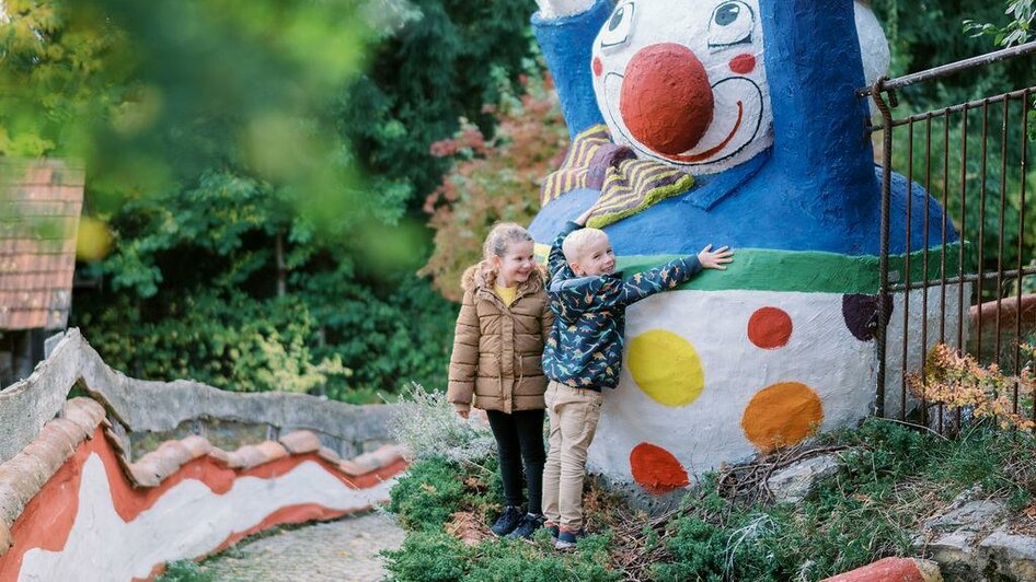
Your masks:
M 505 93 L 486 105 L 496 119 L 492 138 L 467 119 L 458 132 L 431 144 L 453 167 L 428 195 L 424 209 L 436 231 L 435 252 L 421 275 L 444 296 L 460 301 L 460 277 L 482 258 L 482 242 L 500 221 L 528 224 L 540 208 L 540 182 L 557 167 L 568 132 L 550 77 L 521 79 L 525 94 Z

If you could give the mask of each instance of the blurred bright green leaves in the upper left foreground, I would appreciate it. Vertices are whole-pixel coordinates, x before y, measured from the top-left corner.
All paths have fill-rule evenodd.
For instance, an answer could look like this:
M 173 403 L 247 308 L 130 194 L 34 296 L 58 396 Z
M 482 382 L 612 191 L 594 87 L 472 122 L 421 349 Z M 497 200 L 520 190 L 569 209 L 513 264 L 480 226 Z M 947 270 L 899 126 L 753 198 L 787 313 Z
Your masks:
M 83 160 L 91 194 L 115 199 L 234 167 L 319 225 L 364 207 L 325 123 L 373 36 L 356 2 L 23 0 L 8 12 L 0 154 Z

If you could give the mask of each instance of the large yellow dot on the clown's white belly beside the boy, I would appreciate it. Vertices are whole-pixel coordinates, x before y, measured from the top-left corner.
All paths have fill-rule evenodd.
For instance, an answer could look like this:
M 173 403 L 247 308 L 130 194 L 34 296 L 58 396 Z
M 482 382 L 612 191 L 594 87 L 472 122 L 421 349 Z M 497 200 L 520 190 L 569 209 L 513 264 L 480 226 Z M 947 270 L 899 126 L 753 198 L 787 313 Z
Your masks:
M 705 374 L 694 347 L 682 337 L 653 329 L 630 340 L 630 373 L 658 404 L 687 406 L 701 396 Z

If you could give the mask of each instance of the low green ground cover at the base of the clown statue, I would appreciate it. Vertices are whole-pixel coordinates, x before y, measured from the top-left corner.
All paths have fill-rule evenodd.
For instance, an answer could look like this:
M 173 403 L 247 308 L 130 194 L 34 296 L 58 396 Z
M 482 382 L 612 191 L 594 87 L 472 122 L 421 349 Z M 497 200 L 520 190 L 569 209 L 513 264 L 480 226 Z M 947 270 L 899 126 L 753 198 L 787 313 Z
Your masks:
M 390 510 L 408 534 L 400 550 L 387 552 L 387 567 L 399 581 L 819 580 L 916 555 L 920 524 L 976 486 L 979 498 L 1017 510 L 1015 531 L 1036 525 L 1027 517 L 1036 514 L 1036 441 L 1028 433 L 987 422 L 946 440 L 871 419 L 817 446 L 841 449 L 843 467 L 798 504 L 760 502 L 766 496 L 720 487 L 722 476 L 713 474 L 678 510 L 649 517 L 591 486 L 585 509 L 595 535 L 572 554 L 555 551 L 542 532 L 531 544 L 465 536 L 459 515 L 484 531 L 498 511 L 494 462 L 425 457 L 392 492 Z

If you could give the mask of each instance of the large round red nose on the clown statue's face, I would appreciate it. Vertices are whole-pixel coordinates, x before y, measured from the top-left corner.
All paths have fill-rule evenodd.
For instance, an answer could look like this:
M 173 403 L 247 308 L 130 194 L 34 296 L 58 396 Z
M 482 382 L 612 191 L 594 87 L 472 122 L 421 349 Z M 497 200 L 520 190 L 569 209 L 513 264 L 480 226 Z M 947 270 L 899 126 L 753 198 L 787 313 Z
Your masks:
M 705 67 L 691 49 L 675 43 L 647 46 L 633 55 L 619 103 L 633 137 L 659 153 L 690 150 L 712 123 Z

